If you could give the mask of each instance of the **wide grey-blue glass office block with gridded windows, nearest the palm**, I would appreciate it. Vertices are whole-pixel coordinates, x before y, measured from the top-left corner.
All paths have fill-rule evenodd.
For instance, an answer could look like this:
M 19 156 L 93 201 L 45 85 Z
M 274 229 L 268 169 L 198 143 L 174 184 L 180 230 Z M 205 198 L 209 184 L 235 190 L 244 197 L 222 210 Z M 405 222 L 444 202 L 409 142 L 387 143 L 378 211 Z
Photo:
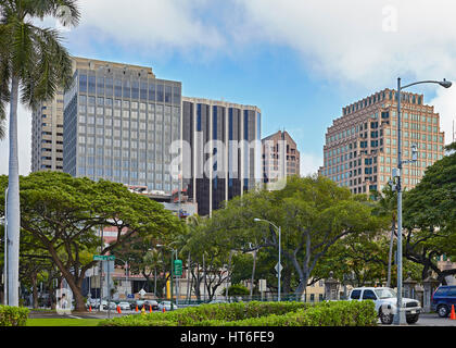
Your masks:
M 87 60 L 64 96 L 63 171 L 170 194 L 181 138 L 181 83 L 152 69 Z

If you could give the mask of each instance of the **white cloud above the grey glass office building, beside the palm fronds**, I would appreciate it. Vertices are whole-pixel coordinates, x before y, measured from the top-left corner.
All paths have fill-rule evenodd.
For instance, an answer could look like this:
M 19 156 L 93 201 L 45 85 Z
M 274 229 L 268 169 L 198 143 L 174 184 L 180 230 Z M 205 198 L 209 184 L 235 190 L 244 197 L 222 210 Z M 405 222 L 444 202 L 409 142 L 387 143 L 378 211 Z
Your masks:
M 224 42 L 223 36 L 214 26 L 204 24 L 198 13 L 208 4 L 207 0 L 84 0 L 79 27 L 91 27 L 93 35 L 105 36 L 106 40 L 135 51 L 217 48 Z

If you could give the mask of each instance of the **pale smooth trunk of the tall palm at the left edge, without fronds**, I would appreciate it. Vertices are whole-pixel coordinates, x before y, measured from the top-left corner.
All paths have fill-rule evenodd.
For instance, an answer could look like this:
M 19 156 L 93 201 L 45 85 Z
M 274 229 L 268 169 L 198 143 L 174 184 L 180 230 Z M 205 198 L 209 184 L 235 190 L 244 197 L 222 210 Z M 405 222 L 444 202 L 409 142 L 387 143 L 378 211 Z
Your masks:
M 8 304 L 18 307 L 18 254 L 20 254 L 20 183 L 17 157 L 17 103 L 18 78 L 11 78 L 10 97 L 10 159 L 8 177 Z

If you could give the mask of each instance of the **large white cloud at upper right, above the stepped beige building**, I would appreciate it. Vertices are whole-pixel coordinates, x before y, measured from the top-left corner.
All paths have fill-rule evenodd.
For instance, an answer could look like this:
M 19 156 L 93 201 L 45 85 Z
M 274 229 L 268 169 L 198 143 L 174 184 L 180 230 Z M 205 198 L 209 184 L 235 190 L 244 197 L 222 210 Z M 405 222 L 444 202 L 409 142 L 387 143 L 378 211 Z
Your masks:
M 398 75 L 442 78 L 456 65 L 454 1 L 237 1 L 245 8 L 244 39 L 292 47 L 316 75 L 342 85 L 375 90 Z M 387 7 L 396 10 L 396 32 L 384 30 Z

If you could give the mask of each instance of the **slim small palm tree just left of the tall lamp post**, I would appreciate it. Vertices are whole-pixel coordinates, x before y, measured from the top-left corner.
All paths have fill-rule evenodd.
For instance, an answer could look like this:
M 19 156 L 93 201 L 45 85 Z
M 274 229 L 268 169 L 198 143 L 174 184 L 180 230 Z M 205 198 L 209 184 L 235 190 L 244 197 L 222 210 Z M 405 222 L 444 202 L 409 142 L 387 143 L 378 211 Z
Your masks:
M 382 192 L 372 192 L 375 200 L 377 200 L 377 206 L 375 212 L 381 216 L 391 217 L 391 239 L 390 239 L 390 251 L 388 256 L 388 277 L 387 277 L 387 287 L 391 286 L 391 263 L 393 258 L 393 243 L 394 243 L 394 232 L 396 228 L 397 221 L 397 194 L 391 189 L 391 186 L 385 186 Z

